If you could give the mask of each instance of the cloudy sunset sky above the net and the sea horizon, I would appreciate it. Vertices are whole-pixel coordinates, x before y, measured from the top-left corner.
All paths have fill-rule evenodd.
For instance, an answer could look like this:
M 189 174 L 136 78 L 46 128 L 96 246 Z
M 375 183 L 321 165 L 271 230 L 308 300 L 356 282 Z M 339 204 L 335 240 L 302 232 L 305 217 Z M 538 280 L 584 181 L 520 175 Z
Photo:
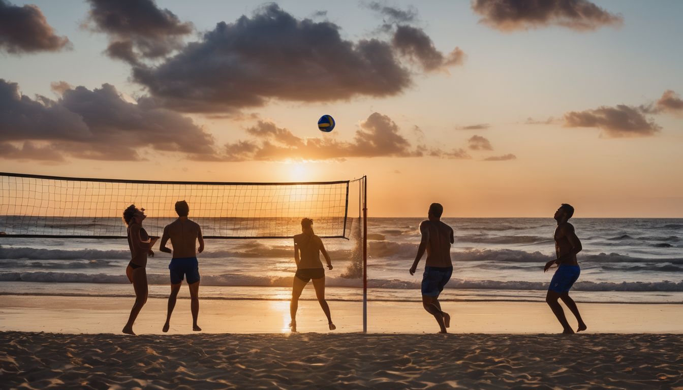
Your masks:
M 675 0 L 0 0 L 0 170 L 367 175 L 371 217 L 432 201 L 445 217 L 683 217 L 682 15 Z

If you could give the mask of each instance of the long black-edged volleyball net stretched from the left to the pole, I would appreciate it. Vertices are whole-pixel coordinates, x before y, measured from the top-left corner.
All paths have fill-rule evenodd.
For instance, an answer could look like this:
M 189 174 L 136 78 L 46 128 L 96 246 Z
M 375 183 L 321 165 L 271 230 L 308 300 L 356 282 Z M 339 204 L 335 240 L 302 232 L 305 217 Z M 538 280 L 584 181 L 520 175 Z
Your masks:
M 350 238 L 349 205 L 361 201 L 361 180 L 169 182 L 0 173 L 0 234 L 126 238 L 122 213 L 135 204 L 145 209 L 149 234 L 161 236 L 178 217 L 176 201 L 184 200 L 204 238 L 290 238 L 301 233 L 303 217 L 315 221 L 321 238 Z

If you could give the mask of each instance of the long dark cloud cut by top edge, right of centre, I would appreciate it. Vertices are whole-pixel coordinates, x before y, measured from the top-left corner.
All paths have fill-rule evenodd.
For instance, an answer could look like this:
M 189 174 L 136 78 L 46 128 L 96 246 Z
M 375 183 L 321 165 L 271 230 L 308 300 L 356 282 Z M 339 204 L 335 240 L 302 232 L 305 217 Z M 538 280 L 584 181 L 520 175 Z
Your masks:
M 592 31 L 624 23 L 588 0 L 473 0 L 472 9 L 484 23 L 501 31 L 527 30 L 557 25 L 577 31 Z

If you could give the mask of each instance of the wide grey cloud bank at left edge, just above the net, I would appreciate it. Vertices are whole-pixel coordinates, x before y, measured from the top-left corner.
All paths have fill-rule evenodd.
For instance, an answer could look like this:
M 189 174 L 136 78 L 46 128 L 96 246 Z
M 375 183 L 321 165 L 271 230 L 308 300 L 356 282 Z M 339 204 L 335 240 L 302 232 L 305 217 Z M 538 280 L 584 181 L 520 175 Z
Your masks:
M 0 79 L 0 143 L 6 150 L 35 156 L 37 147 L 32 143 L 21 150 L 7 145 L 40 141 L 48 143 L 43 147 L 46 152 L 102 160 L 141 160 L 140 152 L 146 149 L 214 153 L 211 135 L 191 119 L 156 107 L 148 99 L 128 102 L 109 84 L 92 91 L 58 85 L 63 90 L 58 100 L 31 99 L 20 94 L 17 83 Z

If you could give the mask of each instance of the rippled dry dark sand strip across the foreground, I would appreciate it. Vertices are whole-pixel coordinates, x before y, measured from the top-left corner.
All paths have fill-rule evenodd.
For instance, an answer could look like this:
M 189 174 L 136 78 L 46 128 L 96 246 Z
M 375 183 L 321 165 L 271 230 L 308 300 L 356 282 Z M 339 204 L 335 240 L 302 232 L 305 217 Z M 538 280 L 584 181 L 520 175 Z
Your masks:
M 682 335 L 0 333 L 3 388 L 683 389 Z

